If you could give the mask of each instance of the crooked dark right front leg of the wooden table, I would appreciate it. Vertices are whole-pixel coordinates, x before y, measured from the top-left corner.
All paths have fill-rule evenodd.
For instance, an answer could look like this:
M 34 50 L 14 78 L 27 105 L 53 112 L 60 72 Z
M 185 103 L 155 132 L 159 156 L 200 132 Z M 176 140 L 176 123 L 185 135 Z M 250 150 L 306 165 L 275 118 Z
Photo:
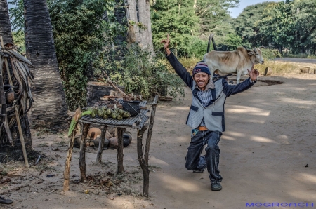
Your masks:
M 143 134 L 145 130 L 148 128 L 148 124 L 146 123 L 142 129 L 137 131 L 137 156 L 140 167 L 143 170 L 143 194 L 148 197 L 149 194 L 149 173 L 150 170 L 146 166 L 145 160 L 143 158 Z

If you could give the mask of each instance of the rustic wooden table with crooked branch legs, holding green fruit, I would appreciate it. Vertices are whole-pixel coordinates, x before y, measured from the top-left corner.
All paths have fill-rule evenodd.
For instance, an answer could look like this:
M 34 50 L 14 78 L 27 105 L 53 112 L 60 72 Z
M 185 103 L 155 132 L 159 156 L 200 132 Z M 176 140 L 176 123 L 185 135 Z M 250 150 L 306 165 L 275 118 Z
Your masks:
M 150 150 L 150 140 L 152 137 L 152 128 L 154 126 L 154 114 L 156 112 L 156 106 L 158 102 L 158 96 L 154 97 L 154 102 L 152 102 L 152 109 L 151 109 L 151 115 L 150 115 L 150 121 L 149 123 L 146 123 L 149 119 L 149 116 L 147 116 L 147 112 L 150 112 L 150 110 L 147 109 L 141 109 L 140 114 L 137 116 L 134 116 L 130 119 L 124 119 L 124 120 L 117 120 L 117 119 L 103 119 L 99 116 L 96 116 L 95 118 L 91 118 L 90 116 L 83 116 L 79 121 L 83 123 L 83 131 L 82 131 L 82 137 L 81 137 L 81 143 L 80 143 L 80 157 L 79 157 L 79 166 L 80 166 L 80 174 L 81 174 L 81 181 L 86 180 L 86 155 L 85 155 L 85 147 L 86 147 L 86 137 L 88 134 L 88 130 L 90 128 L 90 125 L 98 125 L 101 126 L 101 139 L 98 147 L 98 155 L 96 158 L 96 163 L 100 163 L 102 159 L 102 151 L 103 151 L 103 144 L 105 140 L 105 133 L 107 130 L 107 127 L 114 127 L 117 128 L 117 142 L 118 142 L 118 148 L 117 148 L 117 173 L 123 173 L 124 172 L 124 166 L 123 166 L 123 156 L 124 156 L 124 147 L 123 147 L 123 133 L 126 128 L 135 128 L 137 129 L 137 155 L 138 155 L 138 162 L 140 163 L 140 167 L 143 170 L 143 194 L 145 196 L 148 196 L 148 189 L 149 189 L 149 173 L 150 170 L 148 169 L 148 154 Z M 145 107 L 146 104 L 150 104 L 147 101 L 140 102 L 141 107 Z M 145 153 L 143 153 L 143 134 L 145 133 L 145 130 L 147 130 L 147 139 L 146 139 L 146 145 L 145 145 Z M 67 158 L 71 160 L 72 156 L 72 149 L 73 149 L 73 143 L 70 142 L 70 147 L 68 148 L 68 155 Z M 69 175 L 70 175 L 70 163 L 66 163 L 65 166 L 65 173 L 64 173 L 64 191 L 65 183 L 69 185 Z

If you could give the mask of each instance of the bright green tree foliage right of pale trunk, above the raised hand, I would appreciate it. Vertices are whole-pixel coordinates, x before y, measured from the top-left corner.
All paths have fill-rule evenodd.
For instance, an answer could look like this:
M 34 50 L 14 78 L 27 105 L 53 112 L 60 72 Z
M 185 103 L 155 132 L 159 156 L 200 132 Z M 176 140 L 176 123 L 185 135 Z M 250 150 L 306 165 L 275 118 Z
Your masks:
M 156 48 L 162 47 L 160 41 L 169 33 L 175 53 L 188 55 L 189 46 L 199 33 L 199 18 L 195 15 L 193 1 L 157 0 L 152 6 L 152 32 Z

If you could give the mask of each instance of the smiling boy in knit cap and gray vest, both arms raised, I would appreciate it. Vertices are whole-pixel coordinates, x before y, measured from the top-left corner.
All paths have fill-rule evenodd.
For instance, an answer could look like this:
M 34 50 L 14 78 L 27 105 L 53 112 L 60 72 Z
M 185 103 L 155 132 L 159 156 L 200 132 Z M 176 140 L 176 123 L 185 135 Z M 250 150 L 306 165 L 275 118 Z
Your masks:
M 192 71 L 192 76 L 181 65 L 177 58 L 169 50 L 169 34 L 163 40 L 166 58 L 173 69 L 192 90 L 192 105 L 187 117 L 187 126 L 192 129 L 191 142 L 187 148 L 185 168 L 194 173 L 209 172 L 211 190 L 220 191 L 220 182 L 223 177 L 218 170 L 220 149 L 218 142 L 222 132 L 225 131 L 224 104 L 226 97 L 241 93 L 251 88 L 259 76 L 258 70 L 248 69 L 249 79 L 237 85 L 229 85 L 225 79 L 213 82 L 209 67 L 204 61 L 197 62 Z M 201 156 L 204 145 L 206 154 Z

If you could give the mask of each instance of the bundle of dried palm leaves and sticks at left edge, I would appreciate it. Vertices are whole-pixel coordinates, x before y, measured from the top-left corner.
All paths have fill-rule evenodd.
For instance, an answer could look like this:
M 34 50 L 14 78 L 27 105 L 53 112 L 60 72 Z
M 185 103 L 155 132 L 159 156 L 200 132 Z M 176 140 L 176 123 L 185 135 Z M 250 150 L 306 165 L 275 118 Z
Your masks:
M 1 39 L 1 37 L 0 37 Z M 32 138 L 27 112 L 32 107 L 29 81 L 34 78 L 29 70 L 32 63 L 21 55 L 12 43 L 0 45 L 0 162 L 22 160 L 22 150 L 31 154 Z M 5 102 L 3 102 L 5 101 Z M 25 153 L 26 156 L 26 153 Z M 25 158 L 24 158 L 25 159 Z

